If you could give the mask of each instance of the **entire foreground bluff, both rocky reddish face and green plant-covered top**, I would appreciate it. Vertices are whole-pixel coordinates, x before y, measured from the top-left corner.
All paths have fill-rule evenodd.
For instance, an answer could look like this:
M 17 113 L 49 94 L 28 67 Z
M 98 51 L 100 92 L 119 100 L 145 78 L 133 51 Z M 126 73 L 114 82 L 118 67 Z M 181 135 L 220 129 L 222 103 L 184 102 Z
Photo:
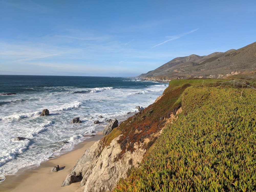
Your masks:
M 86 150 L 63 186 L 78 177 L 84 191 L 255 191 L 256 90 L 207 81 L 219 83 L 170 81 Z

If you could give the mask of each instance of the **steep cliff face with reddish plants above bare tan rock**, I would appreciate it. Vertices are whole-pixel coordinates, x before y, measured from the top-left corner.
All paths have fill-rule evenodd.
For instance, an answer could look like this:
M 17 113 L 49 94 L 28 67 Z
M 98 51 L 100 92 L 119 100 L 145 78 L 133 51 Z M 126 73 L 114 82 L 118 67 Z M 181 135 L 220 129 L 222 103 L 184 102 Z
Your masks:
M 168 123 L 182 111 L 176 102 L 189 86 L 167 88 L 155 103 L 136 113 L 95 142 L 78 160 L 62 186 L 80 182 L 85 192 L 112 191 L 121 178 L 137 168 L 144 154 Z

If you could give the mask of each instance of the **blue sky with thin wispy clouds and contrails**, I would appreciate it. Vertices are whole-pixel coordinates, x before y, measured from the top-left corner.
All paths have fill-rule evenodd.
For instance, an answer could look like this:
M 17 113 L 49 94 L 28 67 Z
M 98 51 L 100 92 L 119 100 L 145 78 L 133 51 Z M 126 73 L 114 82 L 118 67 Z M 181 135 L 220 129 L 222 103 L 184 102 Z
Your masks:
M 255 22 L 255 0 L 0 0 L 0 74 L 135 77 L 249 45 Z

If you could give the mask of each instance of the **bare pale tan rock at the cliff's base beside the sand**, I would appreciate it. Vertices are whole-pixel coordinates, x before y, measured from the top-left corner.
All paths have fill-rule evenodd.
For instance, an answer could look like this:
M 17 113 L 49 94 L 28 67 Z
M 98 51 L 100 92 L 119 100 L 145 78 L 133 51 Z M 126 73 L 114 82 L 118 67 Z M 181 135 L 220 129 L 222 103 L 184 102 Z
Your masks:
M 119 138 L 114 138 L 104 149 L 102 140 L 95 142 L 84 152 L 62 186 L 73 183 L 72 173 L 76 172 L 82 177 L 80 187 L 84 186 L 84 191 L 112 191 L 119 179 L 127 176 L 129 169 L 138 167 L 137 162 L 141 162 L 146 153 L 145 149 L 134 145 L 133 153 L 127 151 L 119 158 L 122 151 L 117 142 Z

